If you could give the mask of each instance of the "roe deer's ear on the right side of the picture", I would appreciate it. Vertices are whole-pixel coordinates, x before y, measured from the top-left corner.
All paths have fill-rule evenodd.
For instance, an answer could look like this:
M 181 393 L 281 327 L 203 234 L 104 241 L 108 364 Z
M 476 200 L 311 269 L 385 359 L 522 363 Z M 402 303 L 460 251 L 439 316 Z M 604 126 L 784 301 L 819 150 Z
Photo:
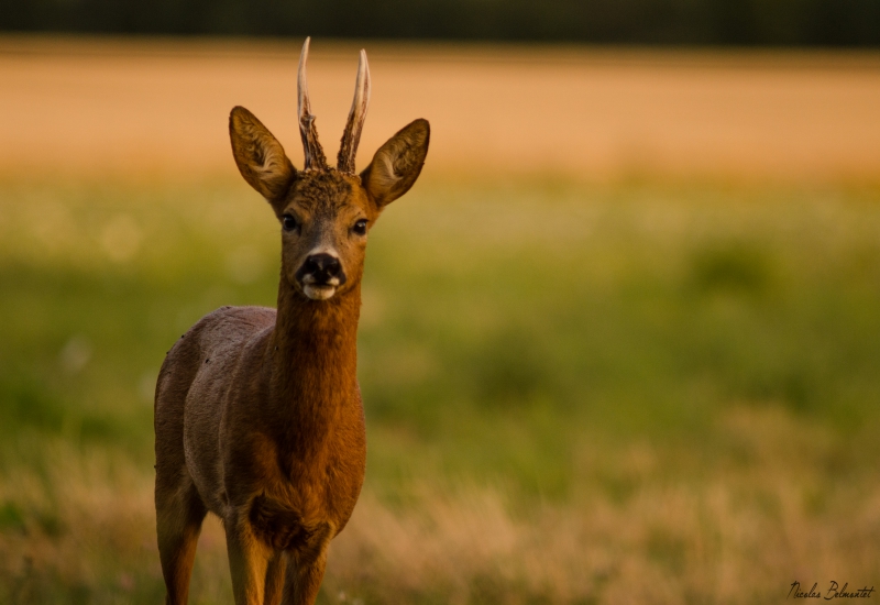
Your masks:
M 380 209 L 406 194 L 416 183 L 428 155 L 430 138 L 428 120 L 414 121 L 388 139 L 361 173 L 361 183 Z

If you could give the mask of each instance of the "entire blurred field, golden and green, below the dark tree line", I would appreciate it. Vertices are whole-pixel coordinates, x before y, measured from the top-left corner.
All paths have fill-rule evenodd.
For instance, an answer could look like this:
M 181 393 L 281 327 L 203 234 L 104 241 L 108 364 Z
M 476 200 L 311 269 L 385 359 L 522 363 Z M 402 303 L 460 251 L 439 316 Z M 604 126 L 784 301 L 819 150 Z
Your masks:
M 0 38 L 0 603 L 160 603 L 152 388 L 274 305 L 243 105 L 299 43 Z M 337 603 L 781 603 L 880 579 L 880 55 L 365 44 L 370 459 Z M 328 155 L 354 42 L 312 41 Z M 193 603 L 229 603 L 206 521 Z

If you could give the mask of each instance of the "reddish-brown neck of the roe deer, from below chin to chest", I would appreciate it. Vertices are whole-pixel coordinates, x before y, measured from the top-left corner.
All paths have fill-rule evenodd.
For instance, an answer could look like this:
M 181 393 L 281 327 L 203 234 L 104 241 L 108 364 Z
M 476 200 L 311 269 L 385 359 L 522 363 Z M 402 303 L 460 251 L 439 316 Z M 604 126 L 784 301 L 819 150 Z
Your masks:
M 271 340 L 271 399 L 283 446 L 315 461 L 346 407 L 359 406 L 358 319 L 361 285 L 309 300 L 282 278 Z

